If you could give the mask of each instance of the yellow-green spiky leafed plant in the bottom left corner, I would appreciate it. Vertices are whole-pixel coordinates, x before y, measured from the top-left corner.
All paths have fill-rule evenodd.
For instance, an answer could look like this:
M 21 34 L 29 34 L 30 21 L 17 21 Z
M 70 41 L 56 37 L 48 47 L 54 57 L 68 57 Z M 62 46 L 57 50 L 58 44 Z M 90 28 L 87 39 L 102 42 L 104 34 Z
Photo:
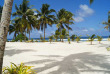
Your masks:
M 23 63 L 19 66 L 11 63 L 10 67 L 3 68 L 3 74 L 36 74 L 31 68 L 32 66 L 25 66 Z

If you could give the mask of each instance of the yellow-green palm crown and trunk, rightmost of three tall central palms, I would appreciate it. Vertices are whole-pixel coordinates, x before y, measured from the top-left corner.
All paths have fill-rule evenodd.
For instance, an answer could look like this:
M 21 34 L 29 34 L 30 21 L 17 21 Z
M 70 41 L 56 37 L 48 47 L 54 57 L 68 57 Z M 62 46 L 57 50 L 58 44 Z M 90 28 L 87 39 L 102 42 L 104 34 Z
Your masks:
M 68 18 L 68 16 L 70 15 L 68 11 L 66 11 L 64 8 L 60 9 L 60 11 L 58 11 L 57 14 L 57 20 L 56 20 L 56 23 L 57 23 L 57 28 L 59 30 L 59 32 L 62 31 L 62 29 L 65 29 L 65 27 L 67 29 L 71 29 L 69 27 L 69 25 L 67 24 L 70 24 L 70 18 Z M 69 14 L 69 15 L 68 15 Z M 72 13 L 71 13 L 72 15 Z M 69 21 L 68 21 L 69 20 Z M 69 23 L 68 23 L 69 22 Z M 72 23 L 72 22 L 71 22 Z M 71 29 L 72 30 L 72 29 Z M 60 35 L 60 41 L 61 41 L 61 35 Z

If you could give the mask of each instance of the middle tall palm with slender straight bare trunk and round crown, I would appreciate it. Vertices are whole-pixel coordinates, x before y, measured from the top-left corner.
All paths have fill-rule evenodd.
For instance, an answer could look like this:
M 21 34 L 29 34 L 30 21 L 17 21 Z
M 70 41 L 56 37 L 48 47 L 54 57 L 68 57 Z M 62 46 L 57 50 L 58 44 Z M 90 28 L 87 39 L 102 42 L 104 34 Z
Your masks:
M 52 24 L 55 23 L 55 16 L 52 15 L 53 12 L 55 12 L 54 9 L 49 9 L 50 5 L 43 4 L 41 11 L 37 11 L 38 16 L 38 25 L 40 26 L 40 29 L 44 30 L 44 41 L 45 41 L 45 29 L 47 28 L 47 25 L 52 26 Z

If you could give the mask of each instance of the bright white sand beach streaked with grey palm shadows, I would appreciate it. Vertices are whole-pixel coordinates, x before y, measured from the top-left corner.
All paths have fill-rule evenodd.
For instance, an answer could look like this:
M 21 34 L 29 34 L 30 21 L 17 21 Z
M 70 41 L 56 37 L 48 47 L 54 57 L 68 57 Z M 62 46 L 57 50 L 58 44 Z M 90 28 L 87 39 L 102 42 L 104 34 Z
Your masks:
M 110 42 L 8 42 L 4 64 L 10 62 L 34 66 L 38 74 L 110 74 Z

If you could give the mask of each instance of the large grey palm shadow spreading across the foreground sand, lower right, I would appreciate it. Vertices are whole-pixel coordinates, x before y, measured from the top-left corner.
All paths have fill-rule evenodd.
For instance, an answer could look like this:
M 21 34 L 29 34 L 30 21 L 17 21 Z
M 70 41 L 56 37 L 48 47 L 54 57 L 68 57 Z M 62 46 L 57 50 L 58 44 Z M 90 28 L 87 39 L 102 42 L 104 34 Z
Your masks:
M 55 57 L 58 55 L 52 56 Z M 110 63 L 107 61 L 107 57 L 109 56 L 106 55 L 85 52 L 63 57 L 62 61 L 50 60 L 50 57 L 52 58 L 52 56 L 45 56 L 48 59 L 31 61 L 26 64 L 43 64 L 46 62 L 51 62 L 49 64 L 45 64 L 44 67 L 34 68 L 37 73 L 49 70 L 56 66 L 59 68 L 48 74 L 80 74 L 80 72 L 101 72 L 103 74 L 110 73 Z M 100 67 L 101 69 L 96 69 L 95 67 Z

